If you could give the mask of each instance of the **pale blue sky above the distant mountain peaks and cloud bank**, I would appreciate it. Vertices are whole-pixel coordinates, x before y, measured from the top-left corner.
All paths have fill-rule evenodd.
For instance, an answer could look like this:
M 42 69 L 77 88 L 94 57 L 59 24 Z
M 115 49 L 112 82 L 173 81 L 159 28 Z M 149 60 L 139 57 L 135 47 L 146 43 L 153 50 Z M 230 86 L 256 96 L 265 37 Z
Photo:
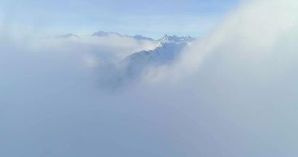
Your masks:
M 103 30 L 160 38 L 200 36 L 213 29 L 239 0 L 4 0 L 3 23 L 48 34 Z

